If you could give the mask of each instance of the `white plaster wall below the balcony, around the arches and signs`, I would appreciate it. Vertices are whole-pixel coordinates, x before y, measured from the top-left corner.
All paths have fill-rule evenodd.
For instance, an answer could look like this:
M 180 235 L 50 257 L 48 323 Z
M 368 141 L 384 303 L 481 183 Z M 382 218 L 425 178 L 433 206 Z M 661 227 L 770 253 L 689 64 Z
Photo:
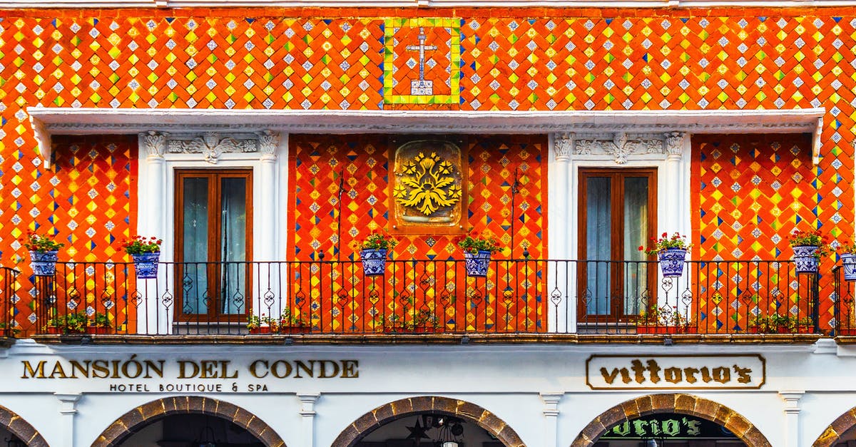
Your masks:
M 817 351 L 817 352 L 816 352 Z M 322 447 L 352 421 L 385 403 L 410 396 L 447 396 L 473 402 L 508 423 L 527 445 L 552 447 L 545 430 L 545 405 L 539 393 L 564 393 L 559 402 L 556 447 L 567 447 L 591 420 L 646 390 L 591 390 L 586 385 L 586 359 L 592 354 L 699 354 L 698 345 L 483 345 L 466 346 L 42 346 L 18 342 L 0 355 L 0 402 L 32 424 L 53 446 L 88 446 L 100 432 L 126 413 L 165 396 L 191 394 L 232 402 L 265 420 L 289 447 Z M 232 392 L 231 379 L 222 393 L 110 392 L 110 383 L 139 380 L 22 379 L 22 360 L 56 359 L 204 360 L 226 359 L 240 370 L 241 383 L 268 384 L 270 391 Z M 702 396 L 732 408 L 752 422 L 774 446 L 787 442 L 782 390 L 801 390 L 799 444 L 808 446 L 835 418 L 856 406 L 856 358 L 851 349 L 835 349 L 829 340 L 812 345 L 705 345 L 704 355 L 760 354 L 766 360 L 766 383 L 760 390 L 663 390 Z M 254 359 L 354 359 L 359 378 L 247 379 L 246 366 Z M 175 371 L 148 384 L 175 382 Z M 201 382 L 203 380 L 196 380 Z M 64 438 L 59 421 L 60 402 L 54 393 L 81 393 L 74 414 L 74 440 Z M 297 393 L 319 393 L 315 404 L 315 442 L 302 443 L 302 417 Z

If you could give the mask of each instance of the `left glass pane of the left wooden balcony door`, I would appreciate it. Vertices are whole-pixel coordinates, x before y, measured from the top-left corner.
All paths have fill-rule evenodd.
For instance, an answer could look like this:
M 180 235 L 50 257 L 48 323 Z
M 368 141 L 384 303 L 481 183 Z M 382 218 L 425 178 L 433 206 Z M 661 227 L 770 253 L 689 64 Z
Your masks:
M 184 218 L 181 260 L 184 272 L 182 309 L 185 314 L 208 313 L 208 179 L 185 177 L 182 181 Z

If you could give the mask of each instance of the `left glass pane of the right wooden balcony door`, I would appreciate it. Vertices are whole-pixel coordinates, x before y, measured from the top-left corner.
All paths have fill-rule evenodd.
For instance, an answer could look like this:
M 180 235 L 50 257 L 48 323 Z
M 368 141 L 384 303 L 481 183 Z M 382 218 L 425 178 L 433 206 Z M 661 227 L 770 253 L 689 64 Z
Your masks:
M 609 314 L 612 196 L 609 177 L 586 179 L 586 313 Z

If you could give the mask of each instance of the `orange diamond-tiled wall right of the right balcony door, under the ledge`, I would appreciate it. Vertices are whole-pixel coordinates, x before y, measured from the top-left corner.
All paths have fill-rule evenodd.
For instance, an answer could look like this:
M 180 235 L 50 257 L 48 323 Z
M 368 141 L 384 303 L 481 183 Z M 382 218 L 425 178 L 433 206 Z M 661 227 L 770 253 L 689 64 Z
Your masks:
M 693 215 L 694 259 L 790 259 L 788 235 L 794 229 L 834 227 L 818 217 L 817 196 L 831 194 L 832 188 L 811 184 L 815 168 L 808 135 L 697 135 L 692 165 L 698 182 L 692 185 L 691 209 L 699 210 Z M 832 268 L 832 259 L 823 263 L 822 271 Z M 699 283 L 715 283 L 707 277 L 716 276 L 722 287 L 704 291 L 693 303 L 710 316 L 702 325 L 711 331 L 722 325 L 745 329 L 753 315 L 781 314 L 788 302 L 799 307 L 800 317 L 808 315 L 805 299 L 800 301 L 805 277 L 793 288 L 783 283 L 784 271 L 776 277 L 767 264 L 750 271 L 724 271 L 724 265 L 710 263 L 700 271 Z M 823 323 L 832 317 L 830 303 L 825 304 Z

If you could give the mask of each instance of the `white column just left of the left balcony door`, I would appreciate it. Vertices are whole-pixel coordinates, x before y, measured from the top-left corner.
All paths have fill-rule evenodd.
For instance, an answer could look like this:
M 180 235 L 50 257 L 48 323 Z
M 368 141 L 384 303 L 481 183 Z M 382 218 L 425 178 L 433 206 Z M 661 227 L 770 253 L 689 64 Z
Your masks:
M 163 154 L 166 152 L 166 137 L 167 134 L 153 130 L 140 134 L 140 152 L 146 153 L 146 159 L 145 166 L 140 166 L 140 180 L 145 176 L 145 188 L 140 188 L 140 201 L 138 202 L 140 209 L 137 212 L 137 215 L 140 216 L 140 222 L 137 234 L 157 236 L 168 241 L 167 246 L 169 246 L 171 245 L 169 243 L 171 238 L 165 234 L 166 225 L 163 211 L 163 204 L 169 203 L 168 200 L 165 200 L 164 193 L 166 188 L 166 161 L 163 159 Z M 166 247 L 161 247 L 162 260 L 165 249 Z M 164 272 L 161 271 L 158 282 L 165 280 L 163 274 Z M 137 282 L 137 291 L 142 296 L 140 308 L 144 309 L 143 312 L 137 313 L 137 331 L 140 333 L 156 334 L 169 331 L 169 316 L 165 308 L 158 309 L 160 303 L 158 302 L 158 290 L 155 284 L 156 282 L 152 279 Z

